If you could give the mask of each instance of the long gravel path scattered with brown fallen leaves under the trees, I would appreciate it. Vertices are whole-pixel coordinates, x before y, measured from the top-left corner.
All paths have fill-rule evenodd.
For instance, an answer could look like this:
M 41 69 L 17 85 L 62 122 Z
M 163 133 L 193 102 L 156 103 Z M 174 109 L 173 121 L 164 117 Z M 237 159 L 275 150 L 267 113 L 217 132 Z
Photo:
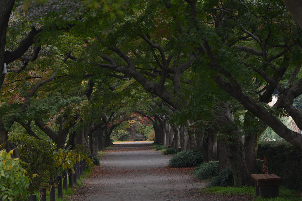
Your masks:
M 90 178 L 69 200 L 201 200 L 205 182 L 192 168 L 169 168 L 172 156 L 152 150 L 152 143 L 115 144 L 101 156 Z

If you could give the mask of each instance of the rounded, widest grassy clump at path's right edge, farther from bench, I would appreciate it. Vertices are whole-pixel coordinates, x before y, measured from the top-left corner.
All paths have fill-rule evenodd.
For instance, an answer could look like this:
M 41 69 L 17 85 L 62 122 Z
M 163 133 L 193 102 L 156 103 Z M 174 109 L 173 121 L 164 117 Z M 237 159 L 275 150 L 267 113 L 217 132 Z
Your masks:
M 168 161 L 168 165 L 173 168 L 194 167 L 201 164 L 203 155 L 200 151 L 182 151 Z

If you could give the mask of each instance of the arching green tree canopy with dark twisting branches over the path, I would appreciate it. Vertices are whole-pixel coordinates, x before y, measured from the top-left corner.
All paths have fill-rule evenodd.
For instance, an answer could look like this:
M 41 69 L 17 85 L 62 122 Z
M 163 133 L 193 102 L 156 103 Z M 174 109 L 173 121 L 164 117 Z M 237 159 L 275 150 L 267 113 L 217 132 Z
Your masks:
M 166 146 L 231 144 L 234 168 L 267 126 L 302 148 L 279 120 L 302 128 L 301 27 L 284 2 L 0 1 L 0 145 L 17 123 L 94 152 L 140 115 Z

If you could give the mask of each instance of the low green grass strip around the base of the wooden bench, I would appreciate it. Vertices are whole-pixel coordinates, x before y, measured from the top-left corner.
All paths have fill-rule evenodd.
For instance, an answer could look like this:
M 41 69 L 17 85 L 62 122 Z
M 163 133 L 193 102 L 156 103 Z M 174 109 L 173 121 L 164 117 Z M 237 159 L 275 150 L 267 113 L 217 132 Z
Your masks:
M 279 188 L 279 196 L 275 198 L 262 198 L 255 196 L 255 187 L 210 187 L 203 188 L 200 190 L 202 194 L 215 194 L 215 195 L 243 195 L 249 196 L 251 200 L 255 201 L 294 201 L 294 200 L 302 200 L 300 193 L 295 190 L 287 189 L 287 188 Z

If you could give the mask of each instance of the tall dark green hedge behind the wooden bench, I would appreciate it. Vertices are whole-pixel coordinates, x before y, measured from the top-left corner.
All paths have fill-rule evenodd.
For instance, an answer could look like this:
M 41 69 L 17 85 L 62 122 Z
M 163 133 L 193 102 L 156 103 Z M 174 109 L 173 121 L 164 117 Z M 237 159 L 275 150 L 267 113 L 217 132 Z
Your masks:
M 302 151 L 287 141 L 261 141 L 257 157 L 266 159 L 268 173 L 282 178 L 285 187 L 302 192 Z

